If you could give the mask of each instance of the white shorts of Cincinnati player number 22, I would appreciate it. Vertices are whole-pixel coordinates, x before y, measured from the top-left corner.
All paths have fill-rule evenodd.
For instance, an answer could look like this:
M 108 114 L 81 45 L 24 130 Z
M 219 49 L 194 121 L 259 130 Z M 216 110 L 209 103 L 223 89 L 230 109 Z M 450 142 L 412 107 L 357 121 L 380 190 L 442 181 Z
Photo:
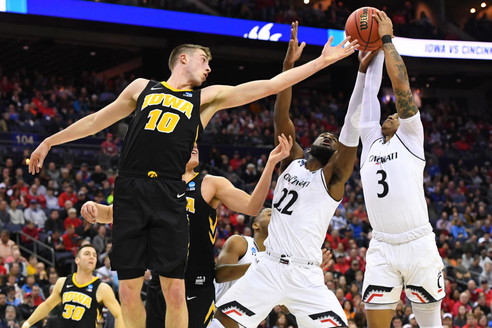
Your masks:
M 299 328 L 347 325 L 335 294 L 324 285 L 319 267 L 300 267 L 274 261 L 264 252 L 217 302 L 224 314 L 246 328 L 256 328 L 275 305 L 285 305 Z

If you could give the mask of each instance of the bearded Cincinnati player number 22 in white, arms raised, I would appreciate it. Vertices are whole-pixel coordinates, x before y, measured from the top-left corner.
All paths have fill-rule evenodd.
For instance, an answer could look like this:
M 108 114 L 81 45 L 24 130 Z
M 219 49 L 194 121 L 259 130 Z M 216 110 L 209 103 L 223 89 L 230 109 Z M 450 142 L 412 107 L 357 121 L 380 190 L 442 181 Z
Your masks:
M 284 70 L 294 66 L 303 47 L 298 46 L 297 24 L 293 24 Z M 211 327 L 238 327 L 238 323 L 256 327 L 277 304 L 296 316 L 299 327 L 347 325 L 340 303 L 324 285 L 319 264 L 330 219 L 357 157 L 358 122 L 353 124 L 351 118 L 361 93 L 354 90 L 340 138 L 322 133 L 308 151 L 308 159 L 294 144 L 289 157 L 281 161 L 265 252 L 256 256 L 255 265 L 218 300 Z M 291 94 L 288 88 L 277 95 L 274 124 L 276 135 L 294 139 Z

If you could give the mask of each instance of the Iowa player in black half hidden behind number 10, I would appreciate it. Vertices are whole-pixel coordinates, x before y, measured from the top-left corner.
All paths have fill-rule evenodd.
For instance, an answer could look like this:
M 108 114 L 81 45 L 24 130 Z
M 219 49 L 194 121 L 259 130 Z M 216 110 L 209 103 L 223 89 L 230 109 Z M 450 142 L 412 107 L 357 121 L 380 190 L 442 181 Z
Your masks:
M 289 154 L 292 146 L 282 136 L 280 144 L 269 156 L 263 174 L 252 195 L 235 188 L 223 177 L 196 173 L 198 148 L 193 148 L 187 163 L 183 180 L 187 183 L 187 213 L 190 221 L 190 254 L 185 273 L 186 299 L 189 326 L 207 327 L 215 313 L 215 261 L 214 244 L 217 224 L 216 209 L 222 202 L 233 211 L 256 215 L 267 196 L 273 169 L 276 163 Z M 113 206 L 105 206 L 88 201 L 81 214 L 91 223 L 110 223 L 113 221 Z M 147 326 L 165 325 L 166 302 L 162 297 L 158 275 L 152 275 L 147 289 Z

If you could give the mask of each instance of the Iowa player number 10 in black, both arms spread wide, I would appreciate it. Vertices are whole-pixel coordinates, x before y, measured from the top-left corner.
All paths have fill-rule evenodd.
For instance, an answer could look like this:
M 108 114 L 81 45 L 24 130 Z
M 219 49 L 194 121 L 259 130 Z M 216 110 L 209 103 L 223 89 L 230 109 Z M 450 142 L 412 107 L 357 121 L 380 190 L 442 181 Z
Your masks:
M 167 81 L 134 80 L 113 103 L 48 137 L 32 153 L 29 172 L 34 174 L 52 146 L 93 135 L 135 112 L 115 181 L 116 220 L 109 253 L 111 266 L 118 272 L 122 312 L 130 328 L 145 327 L 139 293 L 147 268 L 159 272 L 168 304 L 168 327 L 188 327 L 183 278 L 189 234 L 181 175 L 203 127 L 217 111 L 280 92 L 358 47 L 357 40 L 343 47 L 349 38 L 332 47 L 332 40 L 330 37 L 318 58 L 270 80 L 202 90 L 193 88 L 211 72 L 210 49 L 178 46 L 169 58 L 171 76 Z

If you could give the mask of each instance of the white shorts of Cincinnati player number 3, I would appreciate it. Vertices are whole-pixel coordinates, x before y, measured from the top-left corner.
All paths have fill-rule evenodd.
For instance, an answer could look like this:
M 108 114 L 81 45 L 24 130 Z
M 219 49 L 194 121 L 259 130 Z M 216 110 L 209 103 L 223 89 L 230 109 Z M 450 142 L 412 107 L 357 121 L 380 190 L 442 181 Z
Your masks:
M 366 262 L 362 286 L 365 303 L 396 303 L 403 287 L 406 297 L 415 303 L 437 302 L 445 296 L 444 265 L 434 233 L 399 244 L 373 238 Z

